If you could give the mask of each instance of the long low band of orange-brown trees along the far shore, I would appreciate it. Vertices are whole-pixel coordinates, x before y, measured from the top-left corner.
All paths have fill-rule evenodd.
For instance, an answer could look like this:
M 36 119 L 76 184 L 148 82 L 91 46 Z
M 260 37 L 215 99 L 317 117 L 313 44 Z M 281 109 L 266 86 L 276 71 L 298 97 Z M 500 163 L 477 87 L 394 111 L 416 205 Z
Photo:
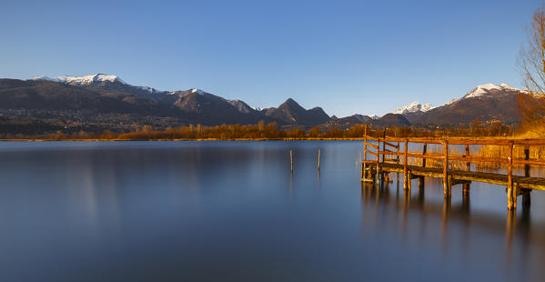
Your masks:
M 25 136 L 4 135 L 4 139 L 47 139 L 47 140 L 282 140 L 282 139 L 355 139 L 368 136 L 396 136 L 396 137 L 441 137 L 441 136 L 510 136 L 513 133 L 511 126 L 500 122 L 485 124 L 478 120 L 469 126 L 445 127 L 378 127 L 358 124 L 347 129 L 332 127 L 321 130 L 318 126 L 308 130 L 301 128 L 281 129 L 277 123 L 257 125 L 221 125 L 201 126 L 189 125 L 167 127 L 165 130 L 154 130 L 151 126 L 141 126 L 133 132 L 104 131 L 91 133 L 79 131 L 67 134 L 62 130 L 55 133 Z

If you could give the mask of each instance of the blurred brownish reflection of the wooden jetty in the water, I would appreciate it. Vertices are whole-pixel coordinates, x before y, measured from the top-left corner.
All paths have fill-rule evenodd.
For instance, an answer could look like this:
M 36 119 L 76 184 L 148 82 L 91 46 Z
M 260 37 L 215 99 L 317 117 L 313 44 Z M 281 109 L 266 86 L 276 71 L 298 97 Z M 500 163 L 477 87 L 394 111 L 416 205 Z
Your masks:
M 400 231 L 404 242 L 419 241 L 429 232 L 435 232 L 440 237 L 440 251 L 443 257 L 449 256 L 449 251 L 461 251 L 463 254 L 472 253 L 470 247 L 475 236 L 471 235 L 476 230 L 486 233 L 505 234 L 503 250 L 490 249 L 490 253 L 502 255 L 503 261 L 509 271 L 515 271 L 512 267 L 520 269 L 530 268 L 531 265 L 545 266 L 543 262 L 530 259 L 532 245 L 542 249 L 545 243 L 543 225 L 532 229 L 530 220 L 530 201 L 521 200 L 521 211 L 505 211 L 505 217 L 479 210 L 472 214 L 471 196 L 469 186 L 459 186 L 459 197 L 442 197 L 442 183 L 435 178 L 414 179 L 413 189 L 403 189 L 399 186 L 399 175 L 390 174 L 393 181 L 380 180 L 379 186 L 374 183 L 361 183 L 361 199 L 363 205 L 362 227 L 368 226 L 368 221 L 374 221 L 377 226 L 388 227 Z M 415 184 L 418 183 L 418 186 Z M 475 185 L 475 184 L 474 184 Z M 479 185 L 478 185 L 479 186 Z M 480 185 L 486 186 L 486 185 Z M 415 189 L 414 187 L 418 187 Z M 432 196 L 426 198 L 426 191 L 430 189 Z M 539 192 L 538 192 L 539 193 Z M 453 204 L 454 202 L 454 204 Z M 393 216 L 390 214 L 393 212 Z M 369 217 L 375 217 L 369 220 Z M 437 226 L 440 220 L 440 231 L 430 231 L 429 227 Z M 433 223 L 430 225 L 429 221 Z M 415 232 L 415 229 L 419 231 Z M 416 238 L 415 238 L 416 237 Z M 368 238 L 366 238 L 368 239 Z M 484 238 L 486 240 L 486 238 Z M 455 241 L 455 244 L 452 242 Z M 420 241 L 426 245 L 431 242 Z M 454 250 L 449 247 L 455 246 Z M 535 254 L 534 254 L 535 255 Z M 514 266 L 512 265 L 514 264 Z M 512 273 L 511 273 L 512 274 Z M 529 275 L 521 272 L 523 277 Z M 536 278 L 531 277 L 530 278 Z

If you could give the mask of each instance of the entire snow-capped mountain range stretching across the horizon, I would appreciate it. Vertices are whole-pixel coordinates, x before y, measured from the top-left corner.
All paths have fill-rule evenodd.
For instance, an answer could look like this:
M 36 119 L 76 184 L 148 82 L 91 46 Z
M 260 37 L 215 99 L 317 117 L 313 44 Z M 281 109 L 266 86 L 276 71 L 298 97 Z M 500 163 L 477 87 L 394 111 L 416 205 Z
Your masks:
M 257 124 L 327 130 L 357 124 L 372 126 L 463 125 L 483 122 L 520 121 L 517 96 L 525 91 L 504 84 L 477 86 L 468 94 L 443 106 L 414 102 L 385 116 L 328 116 L 320 107 L 305 109 L 289 98 L 278 107 L 258 108 L 240 100 L 228 100 L 206 91 L 161 91 L 132 86 L 118 76 L 40 76 L 29 80 L 0 79 L 0 115 L 35 118 L 66 126 L 95 125 L 112 130 L 135 126 L 156 128 L 183 125 Z

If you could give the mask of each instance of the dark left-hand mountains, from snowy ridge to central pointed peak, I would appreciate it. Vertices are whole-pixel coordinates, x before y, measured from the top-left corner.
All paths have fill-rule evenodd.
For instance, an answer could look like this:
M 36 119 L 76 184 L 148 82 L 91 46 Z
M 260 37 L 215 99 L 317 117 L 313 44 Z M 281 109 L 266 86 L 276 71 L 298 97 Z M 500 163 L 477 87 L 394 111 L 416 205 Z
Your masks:
M 130 129 L 128 124 L 214 126 L 257 124 L 261 120 L 280 126 L 317 126 L 330 119 L 321 108 L 306 110 L 293 99 L 278 108 L 258 111 L 243 101 L 227 100 L 196 88 L 159 91 L 101 74 L 41 76 L 26 81 L 0 79 L 0 114 L 110 124 L 126 130 Z

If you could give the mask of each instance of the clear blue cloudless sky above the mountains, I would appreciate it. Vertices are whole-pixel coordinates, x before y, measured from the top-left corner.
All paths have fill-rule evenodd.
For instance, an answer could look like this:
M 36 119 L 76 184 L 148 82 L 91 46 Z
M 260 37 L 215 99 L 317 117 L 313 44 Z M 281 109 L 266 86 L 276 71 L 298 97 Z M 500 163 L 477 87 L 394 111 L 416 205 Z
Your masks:
M 522 87 L 536 0 L 5 1 L 0 77 L 120 76 L 250 106 L 288 97 L 329 115 L 442 105 L 485 83 Z

